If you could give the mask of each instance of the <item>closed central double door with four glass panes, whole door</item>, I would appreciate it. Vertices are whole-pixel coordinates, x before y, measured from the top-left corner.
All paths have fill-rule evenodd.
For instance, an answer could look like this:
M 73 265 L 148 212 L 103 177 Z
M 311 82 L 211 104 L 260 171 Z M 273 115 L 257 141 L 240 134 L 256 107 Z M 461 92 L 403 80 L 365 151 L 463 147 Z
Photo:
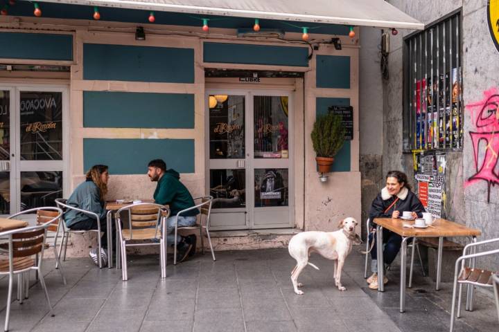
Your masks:
M 291 227 L 290 94 L 209 91 L 207 103 L 213 229 Z

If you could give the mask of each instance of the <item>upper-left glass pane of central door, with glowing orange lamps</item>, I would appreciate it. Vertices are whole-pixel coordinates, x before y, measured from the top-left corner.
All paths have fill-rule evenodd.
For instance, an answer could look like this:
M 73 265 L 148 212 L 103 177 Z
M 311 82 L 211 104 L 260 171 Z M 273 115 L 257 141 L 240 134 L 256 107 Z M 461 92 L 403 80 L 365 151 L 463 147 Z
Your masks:
M 244 96 L 210 95 L 209 103 L 210 158 L 245 158 Z

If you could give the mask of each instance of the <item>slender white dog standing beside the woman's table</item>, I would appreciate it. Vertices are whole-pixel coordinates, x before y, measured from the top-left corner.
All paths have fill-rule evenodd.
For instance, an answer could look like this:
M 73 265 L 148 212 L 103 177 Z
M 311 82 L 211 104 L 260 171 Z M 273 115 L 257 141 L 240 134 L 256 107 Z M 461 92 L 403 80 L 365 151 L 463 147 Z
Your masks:
M 341 228 L 341 230 L 335 232 L 301 232 L 292 237 L 288 250 L 291 257 L 297 261 L 297 265 L 291 271 L 291 282 L 295 288 L 295 293 L 298 295 L 304 293 L 298 289 L 298 287 L 303 286 L 298 282 L 298 276 L 307 264 L 319 270 L 317 266 L 308 262 L 308 257 L 312 252 L 318 252 L 322 257 L 335 261 L 335 285 L 340 291 L 347 289 L 341 284 L 343 264 L 351 251 L 352 243 L 362 243 L 355 233 L 356 225 L 358 225 L 356 219 L 348 217 L 340 221 L 338 228 Z

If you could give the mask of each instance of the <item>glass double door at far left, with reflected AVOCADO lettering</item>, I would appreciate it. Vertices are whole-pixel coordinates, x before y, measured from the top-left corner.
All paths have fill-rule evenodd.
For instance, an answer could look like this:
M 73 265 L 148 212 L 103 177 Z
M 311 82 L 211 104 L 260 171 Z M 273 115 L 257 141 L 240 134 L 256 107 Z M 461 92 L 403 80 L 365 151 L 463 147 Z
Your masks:
M 66 89 L 0 87 L 0 214 L 62 198 Z

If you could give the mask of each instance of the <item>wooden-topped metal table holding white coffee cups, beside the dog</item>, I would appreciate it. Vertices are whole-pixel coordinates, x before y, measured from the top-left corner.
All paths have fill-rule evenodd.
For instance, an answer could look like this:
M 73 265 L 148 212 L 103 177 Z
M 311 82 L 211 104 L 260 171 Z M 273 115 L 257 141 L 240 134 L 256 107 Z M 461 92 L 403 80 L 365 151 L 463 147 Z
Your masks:
M 383 228 L 391 230 L 392 232 L 399 234 L 402 237 L 402 247 L 401 247 L 401 297 L 400 297 L 400 312 L 405 311 L 405 279 L 406 279 L 406 260 L 407 260 L 407 241 L 412 237 L 438 237 L 439 247 L 438 247 L 438 257 L 437 257 L 437 285 L 436 290 L 440 289 L 440 279 L 441 279 L 441 256 L 442 247 L 444 243 L 444 237 L 472 237 L 473 242 L 476 242 L 476 237 L 478 237 L 481 232 L 480 230 L 475 230 L 473 228 L 467 228 L 460 223 L 454 223 L 453 221 L 448 221 L 446 219 L 435 219 L 433 224 L 427 228 L 414 228 L 414 227 L 403 227 L 404 224 L 413 225 L 414 221 L 406 221 L 403 219 L 392 219 L 392 218 L 376 218 L 374 219 L 376 223 L 376 243 L 383 243 Z M 384 262 L 383 262 L 383 246 L 376 246 L 377 257 L 378 257 L 378 280 L 383 280 L 384 277 Z M 474 264 L 474 261 L 472 262 Z M 385 291 L 385 285 L 383 282 L 378 283 L 378 291 Z M 471 288 L 468 291 L 468 297 L 473 297 Z

